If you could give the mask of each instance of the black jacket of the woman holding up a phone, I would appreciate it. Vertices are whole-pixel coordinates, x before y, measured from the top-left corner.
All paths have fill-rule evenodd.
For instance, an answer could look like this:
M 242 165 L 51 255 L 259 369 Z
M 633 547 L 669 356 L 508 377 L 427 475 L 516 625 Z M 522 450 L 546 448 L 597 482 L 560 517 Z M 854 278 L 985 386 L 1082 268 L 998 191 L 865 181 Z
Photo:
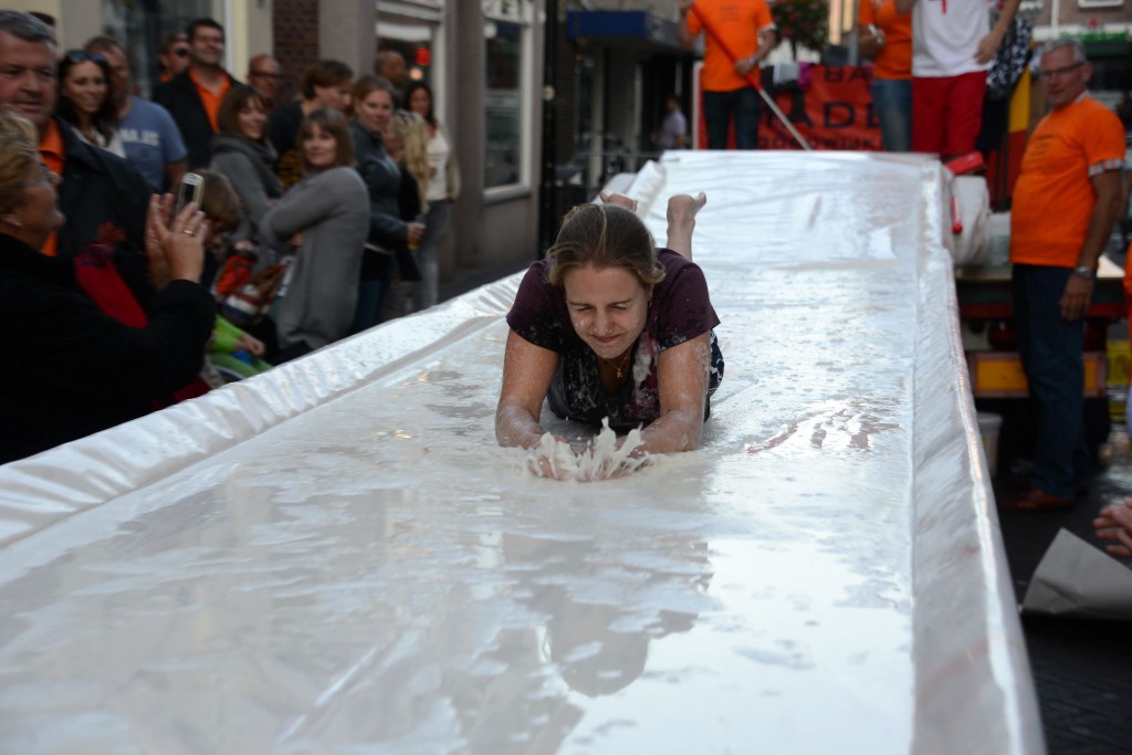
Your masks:
M 201 286 L 172 281 L 149 324 L 104 315 L 74 266 L 0 234 L 0 463 L 146 414 L 199 371 L 215 307 Z

